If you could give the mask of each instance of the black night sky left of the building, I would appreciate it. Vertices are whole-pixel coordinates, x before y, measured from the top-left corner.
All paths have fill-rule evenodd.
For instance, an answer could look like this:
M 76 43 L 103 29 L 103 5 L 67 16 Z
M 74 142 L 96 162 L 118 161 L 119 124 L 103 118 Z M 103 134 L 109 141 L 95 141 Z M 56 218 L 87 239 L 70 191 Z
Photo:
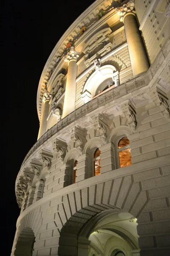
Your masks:
M 1 84 L 1 97 L 4 100 L 3 104 L 1 101 L 1 123 L 4 129 L 1 136 L 4 146 L 3 157 L 1 156 L 3 188 L 0 205 L 1 215 L 6 220 L 1 219 L 5 249 L 3 255 L 11 254 L 16 221 L 20 214 L 14 192 L 17 173 L 24 157 L 37 141 L 39 120 L 36 99 L 43 67 L 65 30 L 93 2 L 94 0 L 2 2 L 1 45 L 4 61 L 2 64 L 1 58 L 1 64 L 4 72 L 1 77 L 5 79 Z

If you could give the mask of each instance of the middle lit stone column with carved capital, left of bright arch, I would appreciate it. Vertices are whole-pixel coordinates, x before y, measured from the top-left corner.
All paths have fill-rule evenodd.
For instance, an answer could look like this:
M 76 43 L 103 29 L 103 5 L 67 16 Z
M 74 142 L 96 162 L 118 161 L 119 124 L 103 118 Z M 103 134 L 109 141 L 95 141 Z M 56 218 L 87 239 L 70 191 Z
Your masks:
M 75 110 L 76 99 L 76 77 L 77 77 L 77 58 L 79 52 L 76 52 L 72 46 L 70 51 L 65 55 L 64 60 L 68 62 L 67 82 L 65 86 L 65 98 L 62 118 Z

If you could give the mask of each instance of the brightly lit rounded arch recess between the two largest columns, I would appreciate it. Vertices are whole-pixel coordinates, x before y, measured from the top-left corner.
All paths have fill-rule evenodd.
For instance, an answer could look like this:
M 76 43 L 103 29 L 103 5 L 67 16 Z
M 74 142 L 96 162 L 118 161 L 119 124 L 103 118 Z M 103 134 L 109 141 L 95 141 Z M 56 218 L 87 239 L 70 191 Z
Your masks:
M 93 98 L 96 95 L 96 90 L 99 88 L 100 84 L 108 79 L 112 79 L 112 75 L 116 71 L 117 69 L 113 65 L 105 65 L 100 67 L 99 72 L 96 70 L 86 81 L 82 93 L 88 91 L 91 93 L 91 98 Z

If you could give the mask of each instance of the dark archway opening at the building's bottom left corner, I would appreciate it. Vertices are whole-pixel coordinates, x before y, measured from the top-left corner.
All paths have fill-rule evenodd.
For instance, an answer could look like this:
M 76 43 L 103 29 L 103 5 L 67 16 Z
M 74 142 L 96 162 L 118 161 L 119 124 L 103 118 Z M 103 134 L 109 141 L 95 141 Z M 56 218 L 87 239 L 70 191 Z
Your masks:
M 32 256 L 35 236 L 30 227 L 25 227 L 17 240 L 15 256 Z

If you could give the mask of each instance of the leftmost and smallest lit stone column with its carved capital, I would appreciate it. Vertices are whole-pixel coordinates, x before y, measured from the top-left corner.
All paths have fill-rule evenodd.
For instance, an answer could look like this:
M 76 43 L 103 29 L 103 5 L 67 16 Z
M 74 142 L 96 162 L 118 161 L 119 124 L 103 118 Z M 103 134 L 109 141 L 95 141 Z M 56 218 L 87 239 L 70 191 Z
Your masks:
M 42 101 L 44 102 L 44 107 L 42 111 L 42 118 L 41 118 L 41 123 L 40 123 L 40 130 L 38 133 L 38 139 L 45 134 L 46 128 L 47 128 L 47 117 L 48 117 L 48 112 L 49 112 L 49 101 L 50 101 L 51 95 L 49 94 L 48 90 L 44 90 L 44 95 L 42 97 Z

